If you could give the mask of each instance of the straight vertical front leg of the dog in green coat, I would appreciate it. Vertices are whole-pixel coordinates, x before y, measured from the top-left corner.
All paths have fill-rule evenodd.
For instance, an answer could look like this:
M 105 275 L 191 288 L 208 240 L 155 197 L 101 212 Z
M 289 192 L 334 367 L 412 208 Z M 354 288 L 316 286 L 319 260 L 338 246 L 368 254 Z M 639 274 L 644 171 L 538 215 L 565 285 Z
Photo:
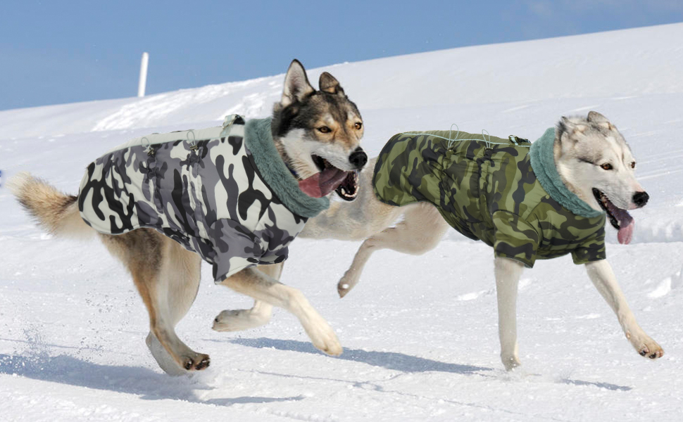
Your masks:
M 507 371 L 520 366 L 517 345 L 517 287 L 524 264 L 496 257 L 496 295 L 498 296 L 498 335 L 501 360 Z

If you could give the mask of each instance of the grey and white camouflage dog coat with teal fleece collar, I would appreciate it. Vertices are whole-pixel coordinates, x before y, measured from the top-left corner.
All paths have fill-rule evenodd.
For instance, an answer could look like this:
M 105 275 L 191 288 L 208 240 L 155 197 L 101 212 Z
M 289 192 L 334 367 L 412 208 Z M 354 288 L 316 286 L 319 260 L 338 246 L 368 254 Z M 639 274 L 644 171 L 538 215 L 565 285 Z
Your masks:
M 160 231 L 213 264 L 219 282 L 286 260 L 289 243 L 329 201 L 299 190 L 275 149 L 270 119 L 245 124 L 231 115 L 223 127 L 114 148 L 87 167 L 78 205 L 103 234 Z

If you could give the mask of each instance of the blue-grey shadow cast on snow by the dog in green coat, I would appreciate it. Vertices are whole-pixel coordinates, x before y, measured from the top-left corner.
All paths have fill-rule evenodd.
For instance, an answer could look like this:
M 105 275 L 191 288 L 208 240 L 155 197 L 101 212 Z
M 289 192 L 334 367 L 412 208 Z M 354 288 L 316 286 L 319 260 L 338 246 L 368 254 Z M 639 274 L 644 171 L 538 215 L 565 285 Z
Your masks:
M 272 348 L 276 350 L 289 350 L 292 352 L 303 352 L 312 354 L 322 354 L 315 349 L 311 343 L 297 341 L 297 340 L 277 340 L 272 338 L 236 338 L 229 340 L 230 343 L 243 345 L 246 347 L 256 347 L 258 349 Z M 425 359 L 423 357 L 411 356 L 410 354 L 403 354 L 397 352 L 375 352 L 358 349 L 344 349 L 341 356 L 332 359 L 343 359 L 351 362 L 363 362 L 364 364 L 372 366 L 380 366 L 382 368 L 391 369 L 401 372 L 449 372 L 459 373 L 461 375 L 489 376 L 485 371 L 494 371 L 491 368 L 484 368 L 482 366 L 472 366 L 463 364 L 449 364 L 446 362 L 439 362 L 432 359 Z M 491 378 L 499 378 L 495 373 L 490 375 Z M 561 378 L 556 380 L 557 383 L 568 385 L 593 386 L 597 388 L 604 388 L 612 391 L 629 391 L 631 387 L 625 385 L 616 385 L 611 383 L 601 383 L 593 381 L 581 381 L 570 378 Z

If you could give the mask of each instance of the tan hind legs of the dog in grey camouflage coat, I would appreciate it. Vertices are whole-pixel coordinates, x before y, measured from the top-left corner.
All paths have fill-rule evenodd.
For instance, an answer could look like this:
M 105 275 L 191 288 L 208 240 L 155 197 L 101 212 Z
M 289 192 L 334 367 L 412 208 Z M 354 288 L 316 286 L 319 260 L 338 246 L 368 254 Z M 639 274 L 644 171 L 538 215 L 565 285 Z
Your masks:
M 161 369 L 171 375 L 179 375 L 183 369 L 205 369 L 210 363 L 208 355 L 194 352 L 175 333 L 175 325 L 187 313 L 199 288 L 199 256 L 151 229 L 101 237 L 132 275 L 149 313 L 146 343 Z

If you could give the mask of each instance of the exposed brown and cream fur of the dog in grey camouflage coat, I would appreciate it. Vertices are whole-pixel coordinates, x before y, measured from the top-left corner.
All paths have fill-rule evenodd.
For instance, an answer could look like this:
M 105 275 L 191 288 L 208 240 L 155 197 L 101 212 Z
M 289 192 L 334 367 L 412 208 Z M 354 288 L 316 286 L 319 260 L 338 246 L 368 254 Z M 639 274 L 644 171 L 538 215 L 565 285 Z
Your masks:
M 282 159 L 300 178 L 319 171 L 311 154 L 342 170 L 358 170 L 367 161 L 359 146 L 363 120 L 356 105 L 344 94 L 337 79 L 327 72 L 320 76 L 320 91 L 313 89 L 298 60 L 287 71 L 271 128 Z M 195 352 L 175 333 L 176 324 L 187 313 L 199 288 L 199 255 L 153 229 L 136 229 L 115 236 L 96 233 L 80 217 L 77 196 L 61 193 L 30 174 L 16 175 L 11 180 L 11 190 L 49 233 L 66 237 L 99 236 L 109 252 L 123 262 L 149 313 L 146 345 L 164 371 L 179 375 L 205 369 L 210 364 L 207 354 Z M 330 325 L 299 290 L 277 280 L 281 271 L 282 264 L 248 268 L 221 284 L 269 306 L 287 309 L 299 318 L 315 347 L 328 354 L 340 354 L 342 346 Z M 248 314 L 249 320 L 260 321 L 259 312 L 260 307 L 254 307 Z M 214 328 L 217 331 L 229 331 L 226 327 L 247 328 L 239 325 L 244 315 L 221 312 Z

